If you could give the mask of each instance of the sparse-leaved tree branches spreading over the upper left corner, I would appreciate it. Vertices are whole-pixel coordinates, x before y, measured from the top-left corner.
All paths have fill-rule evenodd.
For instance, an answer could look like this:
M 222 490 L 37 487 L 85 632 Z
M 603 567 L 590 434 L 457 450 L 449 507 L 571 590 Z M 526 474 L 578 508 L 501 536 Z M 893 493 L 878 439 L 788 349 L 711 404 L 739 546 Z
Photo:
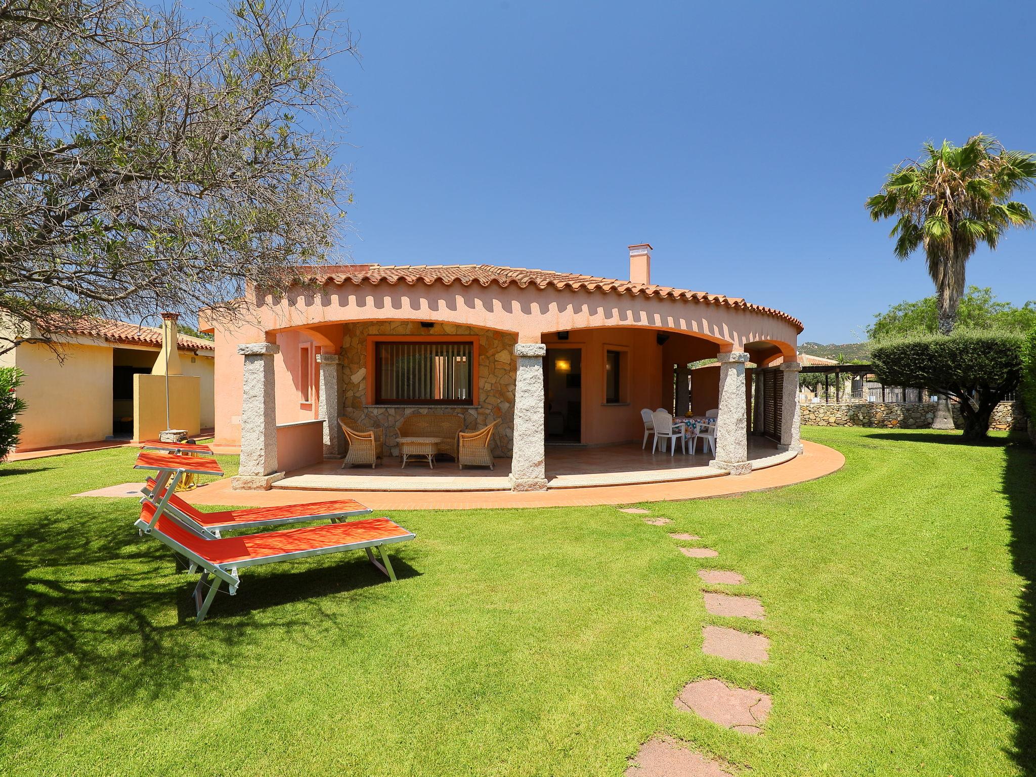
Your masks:
M 272 291 L 336 243 L 346 104 L 321 8 L 241 0 L 220 29 L 174 1 L 0 2 L 0 353 L 94 317 Z

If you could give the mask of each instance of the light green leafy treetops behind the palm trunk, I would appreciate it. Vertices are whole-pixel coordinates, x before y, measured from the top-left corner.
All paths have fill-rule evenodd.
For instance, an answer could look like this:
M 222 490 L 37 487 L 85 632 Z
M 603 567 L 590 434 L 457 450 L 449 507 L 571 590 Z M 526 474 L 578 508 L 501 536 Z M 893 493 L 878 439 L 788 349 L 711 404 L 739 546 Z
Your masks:
M 1036 326 L 1036 300 L 1016 308 L 997 299 L 988 287 L 969 286 L 960 297 L 957 323 L 972 329 L 1028 332 Z M 923 332 L 939 332 L 938 299 L 934 295 L 915 303 L 893 305 L 885 313 L 875 314 L 874 323 L 867 327 L 871 340 Z

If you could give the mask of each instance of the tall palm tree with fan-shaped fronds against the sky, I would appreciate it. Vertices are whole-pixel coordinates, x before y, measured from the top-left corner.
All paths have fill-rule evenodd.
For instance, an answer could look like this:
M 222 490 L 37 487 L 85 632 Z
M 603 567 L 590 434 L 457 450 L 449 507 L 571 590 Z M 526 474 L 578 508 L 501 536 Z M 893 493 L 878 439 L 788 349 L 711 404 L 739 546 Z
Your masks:
M 987 135 L 962 146 L 925 143 L 924 152 L 889 173 L 867 210 L 875 222 L 898 215 L 889 236 L 900 259 L 924 248 L 939 330 L 949 335 L 965 290 L 965 264 L 978 244 L 996 249 L 1005 229 L 1036 224 L 1026 205 L 1011 200 L 1036 183 L 1036 154 L 1008 151 Z

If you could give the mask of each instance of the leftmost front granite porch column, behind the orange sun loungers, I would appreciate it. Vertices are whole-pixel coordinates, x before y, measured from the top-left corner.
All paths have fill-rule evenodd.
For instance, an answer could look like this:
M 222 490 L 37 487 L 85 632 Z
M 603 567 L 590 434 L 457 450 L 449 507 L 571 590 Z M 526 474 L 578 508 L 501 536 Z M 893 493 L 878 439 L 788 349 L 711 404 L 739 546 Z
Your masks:
M 284 477 L 277 471 L 277 401 L 274 356 L 281 350 L 272 343 L 243 343 L 241 381 L 241 461 L 231 486 L 238 490 L 265 491 Z

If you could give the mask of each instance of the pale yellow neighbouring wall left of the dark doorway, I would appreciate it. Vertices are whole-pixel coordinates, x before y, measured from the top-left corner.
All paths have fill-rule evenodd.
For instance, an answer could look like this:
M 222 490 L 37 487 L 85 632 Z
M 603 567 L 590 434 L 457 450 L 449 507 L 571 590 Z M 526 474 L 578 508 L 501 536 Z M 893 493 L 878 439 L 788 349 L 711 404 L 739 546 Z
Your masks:
M 45 345 L 23 344 L 13 351 L 25 373 L 18 390 L 28 403 L 19 451 L 92 442 L 112 433 L 112 348 L 68 344 L 64 362 Z

